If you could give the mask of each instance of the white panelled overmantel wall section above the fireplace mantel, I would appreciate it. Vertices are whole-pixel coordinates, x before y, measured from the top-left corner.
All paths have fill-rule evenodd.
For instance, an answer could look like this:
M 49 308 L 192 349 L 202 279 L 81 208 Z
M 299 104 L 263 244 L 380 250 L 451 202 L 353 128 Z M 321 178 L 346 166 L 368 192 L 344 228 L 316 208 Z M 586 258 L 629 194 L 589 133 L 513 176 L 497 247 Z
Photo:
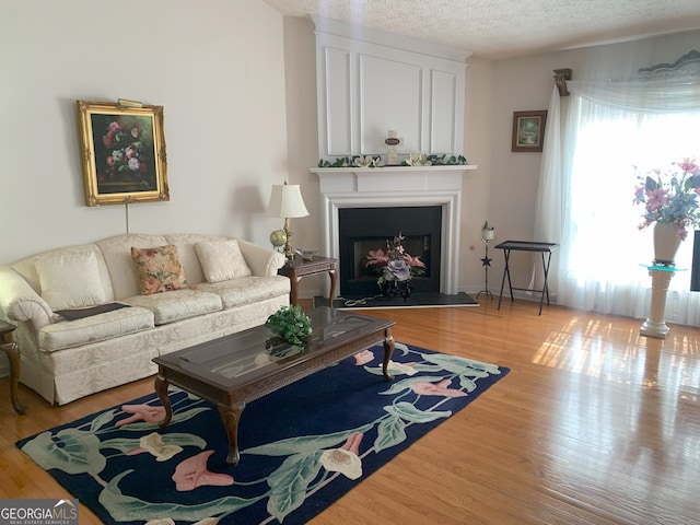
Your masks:
M 468 51 L 315 16 L 318 153 L 382 156 L 464 149 Z

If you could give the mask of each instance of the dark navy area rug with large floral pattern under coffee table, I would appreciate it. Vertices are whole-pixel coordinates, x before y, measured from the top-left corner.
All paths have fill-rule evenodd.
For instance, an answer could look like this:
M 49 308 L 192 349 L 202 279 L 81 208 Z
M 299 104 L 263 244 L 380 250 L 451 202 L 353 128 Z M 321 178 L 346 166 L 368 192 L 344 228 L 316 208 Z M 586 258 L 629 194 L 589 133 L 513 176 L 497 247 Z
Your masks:
M 465 408 L 509 369 L 381 346 L 245 408 L 241 462 L 217 407 L 171 387 L 16 443 L 106 524 L 302 524 Z M 410 452 L 407 452 L 409 454 Z

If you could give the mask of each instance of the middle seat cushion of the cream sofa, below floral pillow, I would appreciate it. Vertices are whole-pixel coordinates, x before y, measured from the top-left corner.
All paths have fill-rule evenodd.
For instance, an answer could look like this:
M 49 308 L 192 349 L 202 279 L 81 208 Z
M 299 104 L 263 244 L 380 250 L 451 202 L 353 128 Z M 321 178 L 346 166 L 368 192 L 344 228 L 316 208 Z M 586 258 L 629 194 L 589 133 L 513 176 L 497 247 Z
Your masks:
M 156 326 L 222 310 L 219 295 L 199 290 L 174 290 L 151 295 L 135 295 L 121 302 L 153 312 Z

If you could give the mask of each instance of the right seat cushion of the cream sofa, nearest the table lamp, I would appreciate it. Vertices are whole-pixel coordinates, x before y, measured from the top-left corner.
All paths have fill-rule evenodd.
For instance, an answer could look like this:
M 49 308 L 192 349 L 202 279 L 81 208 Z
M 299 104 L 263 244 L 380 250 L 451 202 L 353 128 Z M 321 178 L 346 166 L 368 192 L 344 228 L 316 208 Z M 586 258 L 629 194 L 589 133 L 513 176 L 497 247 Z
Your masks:
M 290 281 L 282 276 L 249 276 L 229 281 L 205 282 L 197 288 L 202 292 L 219 294 L 223 308 L 228 310 L 285 295 L 290 291 Z

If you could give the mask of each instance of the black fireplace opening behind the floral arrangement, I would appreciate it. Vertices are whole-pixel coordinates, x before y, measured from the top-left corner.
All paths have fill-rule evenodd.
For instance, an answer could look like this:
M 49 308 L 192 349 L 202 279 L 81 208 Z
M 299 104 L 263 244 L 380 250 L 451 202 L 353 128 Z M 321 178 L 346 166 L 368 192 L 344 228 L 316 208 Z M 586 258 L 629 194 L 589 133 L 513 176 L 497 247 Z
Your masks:
M 399 233 L 404 249 L 427 268 L 411 280 L 412 293 L 440 292 L 442 207 L 415 206 L 338 209 L 340 293 L 346 298 L 380 293 L 380 270 L 365 267 L 371 250 L 387 250 Z

